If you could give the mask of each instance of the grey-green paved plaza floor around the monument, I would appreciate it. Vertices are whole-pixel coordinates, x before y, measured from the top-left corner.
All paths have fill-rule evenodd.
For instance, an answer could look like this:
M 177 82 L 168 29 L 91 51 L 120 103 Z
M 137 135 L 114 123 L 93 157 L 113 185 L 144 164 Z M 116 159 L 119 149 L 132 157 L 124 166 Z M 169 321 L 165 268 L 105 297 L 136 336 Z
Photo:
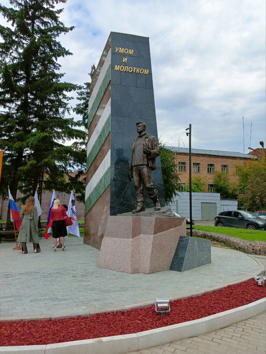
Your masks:
M 0 316 L 95 312 L 100 309 L 181 297 L 251 276 L 260 269 L 244 253 L 212 247 L 212 263 L 183 273 L 126 274 L 97 268 L 99 251 L 68 238 L 66 251 L 53 252 L 52 239 L 40 240 L 41 253 L 13 251 L 0 244 Z

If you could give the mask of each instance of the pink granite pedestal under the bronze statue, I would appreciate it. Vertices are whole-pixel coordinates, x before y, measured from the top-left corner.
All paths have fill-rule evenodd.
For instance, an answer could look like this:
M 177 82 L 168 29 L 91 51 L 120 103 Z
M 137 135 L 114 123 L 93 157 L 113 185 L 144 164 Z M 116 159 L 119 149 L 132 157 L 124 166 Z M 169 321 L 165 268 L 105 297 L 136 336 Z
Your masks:
M 98 267 L 124 273 L 169 270 L 186 219 L 109 216 Z

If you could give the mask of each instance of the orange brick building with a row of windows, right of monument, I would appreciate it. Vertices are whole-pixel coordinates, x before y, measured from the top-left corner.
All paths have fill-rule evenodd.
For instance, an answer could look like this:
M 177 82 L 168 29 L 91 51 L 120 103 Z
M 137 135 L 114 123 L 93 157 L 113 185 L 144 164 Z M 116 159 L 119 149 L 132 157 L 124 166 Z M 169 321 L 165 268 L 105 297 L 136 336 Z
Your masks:
M 166 146 L 175 154 L 175 162 L 180 178 L 180 190 L 186 191 L 189 185 L 189 149 Z M 192 179 L 201 177 L 205 182 L 204 192 L 214 193 L 213 178 L 216 171 L 228 174 L 230 182 L 237 183 L 237 165 L 246 165 L 253 155 L 230 151 L 191 149 Z

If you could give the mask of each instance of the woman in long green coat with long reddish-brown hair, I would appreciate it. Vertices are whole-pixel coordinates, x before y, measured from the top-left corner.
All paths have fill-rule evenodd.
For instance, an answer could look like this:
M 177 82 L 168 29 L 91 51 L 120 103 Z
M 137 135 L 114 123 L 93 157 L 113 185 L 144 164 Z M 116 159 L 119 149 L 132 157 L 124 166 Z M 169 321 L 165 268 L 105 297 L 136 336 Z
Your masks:
M 38 213 L 34 206 L 34 197 L 30 196 L 27 203 L 23 205 L 20 213 L 23 218 L 18 234 L 18 242 L 21 242 L 22 254 L 28 253 L 27 242 L 33 243 L 34 253 L 41 252 L 38 236 Z

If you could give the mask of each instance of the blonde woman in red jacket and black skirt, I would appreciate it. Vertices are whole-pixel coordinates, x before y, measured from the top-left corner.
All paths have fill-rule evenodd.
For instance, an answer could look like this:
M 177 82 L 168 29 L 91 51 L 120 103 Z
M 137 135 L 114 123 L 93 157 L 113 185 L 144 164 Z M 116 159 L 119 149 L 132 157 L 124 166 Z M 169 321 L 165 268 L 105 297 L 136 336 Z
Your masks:
M 65 212 L 65 208 L 60 205 L 60 200 L 56 199 L 53 202 L 53 207 L 51 209 L 51 219 L 52 219 L 52 232 L 53 232 L 53 245 L 54 252 L 56 252 L 56 243 L 57 238 L 61 240 L 62 251 L 64 251 L 64 239 L 67 236 L 67 226 L 65 224 L 65 217 L 67 217 L 67 213 Z

